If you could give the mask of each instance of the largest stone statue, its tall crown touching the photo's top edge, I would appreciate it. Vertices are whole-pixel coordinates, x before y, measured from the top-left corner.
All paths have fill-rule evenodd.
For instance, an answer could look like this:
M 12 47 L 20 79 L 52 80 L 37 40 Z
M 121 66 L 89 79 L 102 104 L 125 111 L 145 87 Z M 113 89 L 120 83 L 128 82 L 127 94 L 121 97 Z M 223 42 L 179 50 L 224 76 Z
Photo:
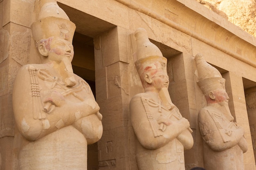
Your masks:
M 99 106 L 72 70 L 75 28 L 55 0 L 41 0 L 31 31 L 45 59 L 22 66 L 13 85 L 20 170 L 86 170 L 87 145 L 101 138 Z

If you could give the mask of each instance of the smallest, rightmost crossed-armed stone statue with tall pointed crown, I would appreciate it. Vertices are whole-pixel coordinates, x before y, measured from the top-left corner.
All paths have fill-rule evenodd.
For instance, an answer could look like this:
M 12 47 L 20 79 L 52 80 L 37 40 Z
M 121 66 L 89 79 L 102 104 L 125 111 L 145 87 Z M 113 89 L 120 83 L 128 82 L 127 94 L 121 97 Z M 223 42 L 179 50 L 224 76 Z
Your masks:
M 207 170 L 243 170 L 243 153 L 247 142 L 242 127 L 231 115 L 225 90 L 225 79 L 208 64 L 201 54 L 195 56 L 198 85 L 207 100 L 207 106 L 198 115 L 203 139 L 204 168 Z

